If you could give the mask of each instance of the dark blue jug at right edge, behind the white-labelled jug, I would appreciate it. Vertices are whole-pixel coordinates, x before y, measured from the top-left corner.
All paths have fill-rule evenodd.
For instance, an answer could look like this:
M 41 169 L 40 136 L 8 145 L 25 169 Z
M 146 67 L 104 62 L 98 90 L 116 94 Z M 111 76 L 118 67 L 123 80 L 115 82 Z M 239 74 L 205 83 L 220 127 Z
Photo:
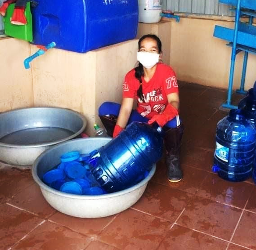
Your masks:
M 249 89 L 247 95 L 239 102 L 238 108 L 243 109 L 247 120 L 251 121 L 256 129 L 256 82 L 252 89 Z

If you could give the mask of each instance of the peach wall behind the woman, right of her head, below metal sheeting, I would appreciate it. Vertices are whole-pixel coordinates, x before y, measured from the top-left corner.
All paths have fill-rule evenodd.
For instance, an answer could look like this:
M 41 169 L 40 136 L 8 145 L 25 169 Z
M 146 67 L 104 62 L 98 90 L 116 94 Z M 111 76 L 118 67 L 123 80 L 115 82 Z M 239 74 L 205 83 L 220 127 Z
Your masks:
M 215 25 L 234 27 L 234 22 L 182 17 L 180 22 L 139 23 L 138 35 L 152 33 L 160 37 L 164 62 L 170 62 L 179 80 L 227 89 L 231 48 L 226 46 L 227 41 L 213 37 Z M 236 59 L 234 89 L 240 86 L 242 67 L 243 52 Z M 255 68 L 256 56 L 249 54 L 245 89 L 256 80 Z

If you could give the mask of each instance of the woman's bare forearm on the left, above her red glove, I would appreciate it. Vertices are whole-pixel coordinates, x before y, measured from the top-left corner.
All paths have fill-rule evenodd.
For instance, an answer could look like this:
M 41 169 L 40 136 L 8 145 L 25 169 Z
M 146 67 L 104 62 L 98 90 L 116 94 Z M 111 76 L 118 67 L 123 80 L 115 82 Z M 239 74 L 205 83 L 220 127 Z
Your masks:
M 130 117 L 130 113 L 133 107 L 133 98 L 123 98 L 120 112 L 117 118 L 117 125 L 121 128 L 125 128 Z

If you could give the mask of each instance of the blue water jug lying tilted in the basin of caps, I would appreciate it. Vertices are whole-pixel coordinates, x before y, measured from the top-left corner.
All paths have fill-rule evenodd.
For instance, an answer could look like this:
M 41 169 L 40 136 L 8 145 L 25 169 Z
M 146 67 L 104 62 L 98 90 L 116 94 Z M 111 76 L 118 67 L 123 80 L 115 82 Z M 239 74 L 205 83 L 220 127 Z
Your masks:
M 144 179 L 145 171 L 161 158 L 162 149 L 159 125 L 132 122 L 95 152 L 89 162 L 91 173 L 107 192 L 123 190 Z

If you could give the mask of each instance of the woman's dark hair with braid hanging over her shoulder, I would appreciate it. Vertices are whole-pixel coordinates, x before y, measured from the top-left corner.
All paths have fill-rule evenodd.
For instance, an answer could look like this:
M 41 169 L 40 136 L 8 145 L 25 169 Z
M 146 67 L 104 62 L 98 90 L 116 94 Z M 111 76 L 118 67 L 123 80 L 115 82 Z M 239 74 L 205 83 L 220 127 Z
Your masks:
M 152 35 L 152 34 L 144 35 L 139 39 L 139 42 L 138 42 L 139 49 L 140 49 L 141 42 L 145 38 L 151 38 L 155 40 L 157 42 L 158 53 L 162 52 L 161 40 L 159 39 L 158 36 Z M 142 79 L 141 79 L 142 76 L 144 76 L 144 69 L 143 69 L 143 65 L 139 62 L 139 65 L 135 67 L 135 77 L 139 80 L 139 89 L 137 90 L 137 96 L 140 98 L 142 102 L 144 102 L 144 96 L 142 94 Z

